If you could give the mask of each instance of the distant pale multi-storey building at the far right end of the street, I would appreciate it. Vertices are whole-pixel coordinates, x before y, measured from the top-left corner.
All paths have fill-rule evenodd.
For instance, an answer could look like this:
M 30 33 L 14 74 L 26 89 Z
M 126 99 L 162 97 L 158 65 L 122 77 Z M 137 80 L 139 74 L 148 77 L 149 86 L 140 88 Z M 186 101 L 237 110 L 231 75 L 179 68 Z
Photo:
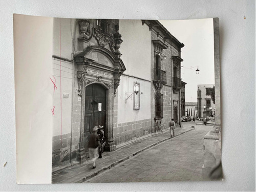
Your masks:
M 210 96 L 210 89 L 213 87 L 214 84 L 198 84 L 197 86 L 198 117 L 200 118 L 209 117 L 215 113 L 215 104 Z

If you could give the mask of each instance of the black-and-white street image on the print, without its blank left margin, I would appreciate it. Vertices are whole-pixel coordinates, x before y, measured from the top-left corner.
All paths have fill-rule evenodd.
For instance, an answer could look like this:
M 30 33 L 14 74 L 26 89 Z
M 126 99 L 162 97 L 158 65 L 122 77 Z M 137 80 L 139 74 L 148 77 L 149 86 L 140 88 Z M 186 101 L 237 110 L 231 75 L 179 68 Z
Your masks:
M 53 18 L 52 183 L 222 180 L 218 34 Z

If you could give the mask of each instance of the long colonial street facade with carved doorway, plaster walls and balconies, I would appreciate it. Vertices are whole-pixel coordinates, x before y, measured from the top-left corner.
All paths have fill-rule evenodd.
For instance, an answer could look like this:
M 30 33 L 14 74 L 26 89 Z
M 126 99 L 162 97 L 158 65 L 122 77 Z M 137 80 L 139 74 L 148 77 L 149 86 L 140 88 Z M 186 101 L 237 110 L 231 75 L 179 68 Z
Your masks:
M 181 125 L 183 46 L 157 20 L 54 18 L 53 172 L 86 161 L 95 125 L 105 151 Z

